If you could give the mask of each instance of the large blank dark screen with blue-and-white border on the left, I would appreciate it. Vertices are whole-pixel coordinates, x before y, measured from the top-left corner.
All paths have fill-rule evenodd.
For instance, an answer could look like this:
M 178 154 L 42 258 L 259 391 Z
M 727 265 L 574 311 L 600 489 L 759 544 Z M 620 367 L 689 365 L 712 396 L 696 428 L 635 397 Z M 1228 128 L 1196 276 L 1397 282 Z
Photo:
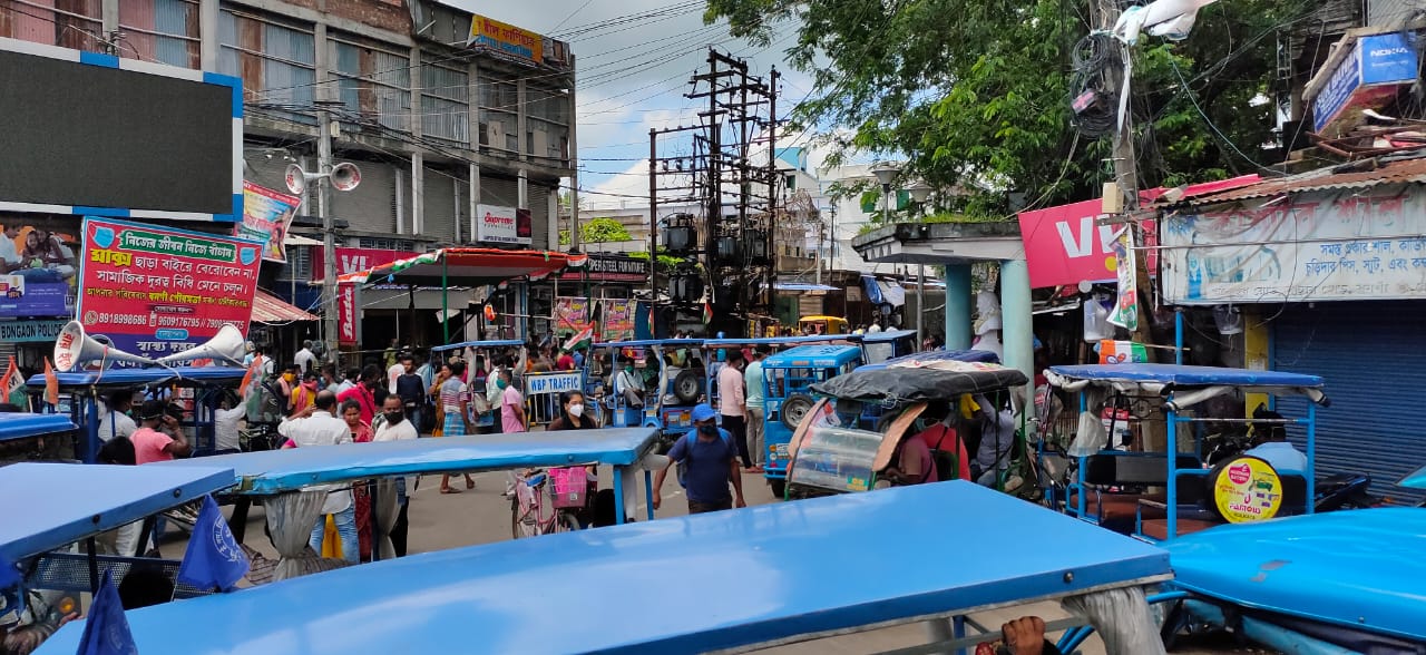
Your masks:
M 242 218 L 242 83 L 0 39 L 0 211 Z

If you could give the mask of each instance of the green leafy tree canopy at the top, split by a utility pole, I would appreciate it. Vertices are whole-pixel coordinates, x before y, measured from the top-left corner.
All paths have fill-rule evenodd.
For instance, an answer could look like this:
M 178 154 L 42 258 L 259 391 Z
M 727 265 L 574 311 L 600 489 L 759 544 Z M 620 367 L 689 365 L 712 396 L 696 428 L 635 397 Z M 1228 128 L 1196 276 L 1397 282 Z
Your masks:
M 1112 180 L 1109 138 L 1071 127 L 1071 51 L 1089 33 L 1089 1 L 709 0 L 706 19 L 760 44 L 796 30 L 786 56 L 814 91 L 793 118 L 844 128 L 824 137 L 831 163 L 896 153 L 908 176 L 971 193 L 950 208 L 1004 215 L 1010 193 L 1047 205 L 1095 197 Z M 1275 93 L 1276 37 L 1312 6 L 1221 1 L 1199 11 L 1185 41 L 1141 39 L 1141 187 L 1259 170 L 1273 140 L 1275 104 L 1263 100 Z

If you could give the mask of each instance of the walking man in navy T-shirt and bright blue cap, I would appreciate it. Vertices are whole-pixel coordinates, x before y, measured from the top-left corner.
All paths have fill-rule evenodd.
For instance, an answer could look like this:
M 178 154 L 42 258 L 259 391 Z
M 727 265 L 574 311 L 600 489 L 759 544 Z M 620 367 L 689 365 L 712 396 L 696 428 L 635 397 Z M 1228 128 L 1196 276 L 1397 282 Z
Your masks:
M 743 469 L 733 435 L 717 427 L 717 411 L 707 402 L 693 408 L 693 430 L 669 451 L 669 465 L 659 469 L 653 482 L 653 508 L 663 502 L 663 481 L 669 467 L 679 465 L 679 484 L 689 497 L 689 514 L 747 507 L 743 501 Z M 733 492 L 729 494 L 729 482 Z

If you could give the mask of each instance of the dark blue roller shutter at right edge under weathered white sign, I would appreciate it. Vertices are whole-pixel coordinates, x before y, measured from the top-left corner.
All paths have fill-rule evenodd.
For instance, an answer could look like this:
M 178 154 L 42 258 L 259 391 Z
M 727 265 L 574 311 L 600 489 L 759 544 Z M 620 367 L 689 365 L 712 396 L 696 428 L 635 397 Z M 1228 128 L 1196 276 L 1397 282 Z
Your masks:
M 1318 408 L 1318 475 L 1369 472 L 1373 494 L 1426 497 L 1395 485 L 1426 464 L 1426 301 L 1293 304 L 1272 325 L 1273 368 L 1322 375 L 1332 401 Z M 1279 407 L 1293 417 L 1305 411 L 1302 400 Z M 1291 438 L 1303 447 L 1302 428 Z

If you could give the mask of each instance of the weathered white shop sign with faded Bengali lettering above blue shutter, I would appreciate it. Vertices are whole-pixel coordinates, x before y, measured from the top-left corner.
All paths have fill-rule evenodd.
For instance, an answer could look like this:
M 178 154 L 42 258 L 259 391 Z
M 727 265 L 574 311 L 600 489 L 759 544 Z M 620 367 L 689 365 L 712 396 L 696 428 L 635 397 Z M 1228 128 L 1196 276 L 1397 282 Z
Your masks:
M 1426 194 L 1310 194 L 1161 225 L 1174 304 L 1426 298 Z

